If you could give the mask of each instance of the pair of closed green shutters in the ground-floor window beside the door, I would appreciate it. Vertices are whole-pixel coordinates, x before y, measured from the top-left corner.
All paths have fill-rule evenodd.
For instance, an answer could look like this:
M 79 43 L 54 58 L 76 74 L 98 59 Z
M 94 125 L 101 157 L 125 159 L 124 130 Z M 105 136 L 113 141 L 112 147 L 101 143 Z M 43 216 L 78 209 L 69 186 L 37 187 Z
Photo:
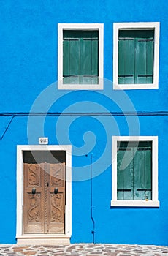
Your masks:
M 151 151 L 151 142 L 120 142 L 117 155 L 118 200 L 152 200 Z

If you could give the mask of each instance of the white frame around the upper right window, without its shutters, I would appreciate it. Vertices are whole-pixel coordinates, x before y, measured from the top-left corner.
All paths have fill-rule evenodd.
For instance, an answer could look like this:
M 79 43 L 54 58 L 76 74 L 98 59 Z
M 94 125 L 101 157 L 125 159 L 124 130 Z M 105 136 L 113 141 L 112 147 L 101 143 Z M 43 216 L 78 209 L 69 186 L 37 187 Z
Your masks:
M 120 29 L 154 29 L 153 83 L 118 83 L 118 33 Z M 113 24 L 113 89 L 158 89 L 159 88 L 159 22 L 114 23 Z

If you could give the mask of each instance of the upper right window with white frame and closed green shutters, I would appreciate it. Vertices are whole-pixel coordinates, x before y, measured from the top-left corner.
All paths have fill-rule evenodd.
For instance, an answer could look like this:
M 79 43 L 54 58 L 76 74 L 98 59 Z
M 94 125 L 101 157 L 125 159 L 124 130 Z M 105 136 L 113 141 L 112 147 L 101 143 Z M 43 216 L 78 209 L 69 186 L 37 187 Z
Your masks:
M 159 23 L 114 24 L 114 89 L 156 89 Z

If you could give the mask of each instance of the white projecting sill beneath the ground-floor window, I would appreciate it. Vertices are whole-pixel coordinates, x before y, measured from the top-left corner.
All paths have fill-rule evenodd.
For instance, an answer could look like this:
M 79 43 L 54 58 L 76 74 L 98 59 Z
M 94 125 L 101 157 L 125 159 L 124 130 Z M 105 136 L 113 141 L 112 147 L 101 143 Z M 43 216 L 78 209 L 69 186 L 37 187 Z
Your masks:
M 118 200 L 114 201 L 111 200 L 111 206 L 112 207 L 159 207 L 160 203 L 159 201 L 145 201 L 145 200 Z

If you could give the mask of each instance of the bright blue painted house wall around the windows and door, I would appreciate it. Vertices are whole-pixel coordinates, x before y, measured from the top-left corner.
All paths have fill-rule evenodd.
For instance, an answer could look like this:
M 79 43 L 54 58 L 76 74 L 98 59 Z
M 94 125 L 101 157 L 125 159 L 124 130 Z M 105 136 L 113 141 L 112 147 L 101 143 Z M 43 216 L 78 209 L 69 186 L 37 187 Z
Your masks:
M 104 112 L 104 108 L 107 112 L 134 108 L 143 112 L 167 111 L 167 20 L 164 0 L 1 0 L 0 113 L 28 112 L 34 102 L 34 109 L 40 112 Z M 112 25 L 139 21 L 161 23 L 159 89 L 129 90 L 126 94 L 113 91 L 109 81 L 112 81 Z M 103 91 L 62 92 L 57 90 L 56 84 L 50 86 L 57 80 L 58 23 L 104 23 L 104 78 L 107 80 Z M 36 100 L 43 90 L 44 94 Z M 9 118 L 0 116 L 0 135 Z M 56 116 L 46 117 L 44 126 L 40 117 L 34 120 L 36 125 L 34 130 L 28 129 L 28 136 L 28 117 L 15 117 L 0 141 L 0 243 L 15 243 L 16 145 L 37 144 L 44 130 L 50 144 L 66 144 L 70 140 L 74 167 L 86 165 L 89 173 L 91 152 L 94 162 L 101 159 L 99 166 L 93 168 L 93 173 L 99 173 L 93 178 L 96 243 L 168 244 L 167 116 L 140 116 L 138 120 L 134 117 L 126 120 L 125 116 Z M 87 131 L 90 132 L 85 134 Z M 111 137 L 130 135 L 130 132 L 131 135 L 140 132 L 140 135 L 159 136 L 160 208 L 110 208 Z M 75 147 L 82 147 L 80 156 Z M 81 180 L 83 173 L 75 173 L 73 168 L 72 176 L 71 242 L 92 242 L 90 180 L 75 181 Z

